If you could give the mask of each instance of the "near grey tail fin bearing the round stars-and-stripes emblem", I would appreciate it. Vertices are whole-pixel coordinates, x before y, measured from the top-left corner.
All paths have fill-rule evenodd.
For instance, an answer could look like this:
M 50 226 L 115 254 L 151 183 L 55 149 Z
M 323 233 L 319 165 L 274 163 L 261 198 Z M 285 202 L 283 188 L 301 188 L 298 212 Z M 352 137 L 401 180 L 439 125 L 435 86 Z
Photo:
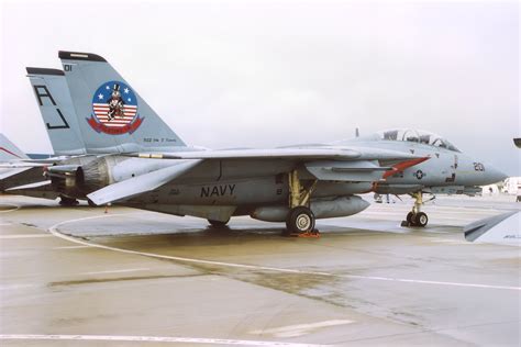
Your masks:
M 59 52 L 89 153 L 179 150 L 179 136 L 102 57 Z

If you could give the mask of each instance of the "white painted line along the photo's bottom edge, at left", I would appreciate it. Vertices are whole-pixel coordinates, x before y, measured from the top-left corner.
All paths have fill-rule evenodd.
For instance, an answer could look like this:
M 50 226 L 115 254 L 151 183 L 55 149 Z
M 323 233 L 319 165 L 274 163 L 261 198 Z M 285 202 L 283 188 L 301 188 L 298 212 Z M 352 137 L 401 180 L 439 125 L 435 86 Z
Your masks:
M 113 336 L 113 335 L 34 335 L 16 334 L 0 335 L 0 340 L 96 340 L 96 342 L 123 342 L 123 343 L 177 343 L 177 344 L 203 344 L 225 346 L 291 346 L 291 347 L 317 347 L 325 345 L 293 344 L 270 340 L 248 340 L 228 338 L 199 338 L 199 337 L 168 337 L 168 336 Z

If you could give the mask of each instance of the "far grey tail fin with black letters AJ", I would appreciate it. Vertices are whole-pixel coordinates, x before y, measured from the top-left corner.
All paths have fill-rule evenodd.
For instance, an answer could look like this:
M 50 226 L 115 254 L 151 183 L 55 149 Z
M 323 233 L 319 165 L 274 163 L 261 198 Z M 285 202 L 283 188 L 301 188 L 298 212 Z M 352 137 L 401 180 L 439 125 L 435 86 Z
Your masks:
M 26 70 L 54 153 L 86 154 L 64 71 L 36 67 Z

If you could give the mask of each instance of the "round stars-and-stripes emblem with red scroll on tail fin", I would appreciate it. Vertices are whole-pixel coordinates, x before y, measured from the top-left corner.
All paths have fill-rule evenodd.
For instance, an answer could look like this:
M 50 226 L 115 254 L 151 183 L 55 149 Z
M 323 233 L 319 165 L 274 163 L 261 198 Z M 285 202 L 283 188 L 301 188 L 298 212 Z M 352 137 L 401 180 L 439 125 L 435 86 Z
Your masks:
M 132 134 L 144 119 L 137 113 L 137 98 L 124 82 L 108 81 L 92 96 L 92 115 L 87 119 L 98 133 Z

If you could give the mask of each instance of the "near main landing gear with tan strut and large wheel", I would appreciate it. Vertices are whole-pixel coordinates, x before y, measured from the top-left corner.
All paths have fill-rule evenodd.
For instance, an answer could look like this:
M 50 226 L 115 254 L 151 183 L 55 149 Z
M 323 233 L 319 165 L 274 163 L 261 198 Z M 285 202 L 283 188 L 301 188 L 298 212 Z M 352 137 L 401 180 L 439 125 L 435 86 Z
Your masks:
M 314 228 L 314 214 L 309 208 L 310 197 L 317 187 L 317 180 L 306 187 L 297 170 L 289 172 L 289 213 L 286 219 L 285 236 L 320 237 Z

